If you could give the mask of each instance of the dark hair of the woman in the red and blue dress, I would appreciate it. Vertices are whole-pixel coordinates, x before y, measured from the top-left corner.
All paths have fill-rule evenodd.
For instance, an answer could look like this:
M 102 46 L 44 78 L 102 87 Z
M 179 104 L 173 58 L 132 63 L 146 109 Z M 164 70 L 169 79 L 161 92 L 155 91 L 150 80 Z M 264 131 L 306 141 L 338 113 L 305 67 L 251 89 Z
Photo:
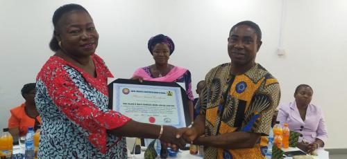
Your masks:
M 83 6 L 78 4 L 71 3 L 71 4 L 66 4 L 64 6 L 61 6 L 54 12 L 52 17 L 54 30 L 58 28 L 58 21 L 61 19 L 62 15 L 65 15 L 67 12 L 76 11 L 76 10 L 87 12 L 87 14 L 89 15 L 89 12 L 85 8 L 83 8 Z M 57 51 L 60 49 L 58 40 L 56 39 L 54 32 L 53 32 L 53 37 L 51 41 L 49 42 L 49 48 L 51 48 L 51 50 L 53 51 Z

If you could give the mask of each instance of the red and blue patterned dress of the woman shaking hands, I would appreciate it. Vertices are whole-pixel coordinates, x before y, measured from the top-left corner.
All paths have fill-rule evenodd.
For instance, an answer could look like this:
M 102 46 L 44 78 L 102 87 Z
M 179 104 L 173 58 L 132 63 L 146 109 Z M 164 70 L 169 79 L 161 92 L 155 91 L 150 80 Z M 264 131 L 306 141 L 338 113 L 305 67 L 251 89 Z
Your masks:
M 38 73 L 39 158 L 126 158 L 125 139 L 106 131 L 130 118 L 108 109 L 107 78 L 112 74 L 99 56 L 92 59 L 96 77 L 56 56 Z

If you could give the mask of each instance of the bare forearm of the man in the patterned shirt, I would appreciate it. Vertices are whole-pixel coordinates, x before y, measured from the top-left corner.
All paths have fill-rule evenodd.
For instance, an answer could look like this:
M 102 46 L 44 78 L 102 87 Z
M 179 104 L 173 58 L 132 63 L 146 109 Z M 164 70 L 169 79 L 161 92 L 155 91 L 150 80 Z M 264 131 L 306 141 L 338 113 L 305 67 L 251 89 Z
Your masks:
M 248 149 L 254 147 L 260 136 L 260 133 L 235 131 L 221 135 L 200 137 L 194 140 L 193 143 L 220 149 Z

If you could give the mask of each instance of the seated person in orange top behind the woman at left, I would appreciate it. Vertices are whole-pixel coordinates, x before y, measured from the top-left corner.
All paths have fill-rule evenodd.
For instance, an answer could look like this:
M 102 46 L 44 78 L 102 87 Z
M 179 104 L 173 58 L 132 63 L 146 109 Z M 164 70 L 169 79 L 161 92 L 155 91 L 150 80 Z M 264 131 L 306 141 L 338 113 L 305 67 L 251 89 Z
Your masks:
M 11 117 L 8 119 L 8 129 L 13 136 L 13 141 L 18 141 L 18 137 L 26 135 L 28 127 L 34 127 L 41 124 L 39 113 L 35 106 L 35 83 L 24 84 L 22 96 L 25 102 L 20 106 L 11 109 Z

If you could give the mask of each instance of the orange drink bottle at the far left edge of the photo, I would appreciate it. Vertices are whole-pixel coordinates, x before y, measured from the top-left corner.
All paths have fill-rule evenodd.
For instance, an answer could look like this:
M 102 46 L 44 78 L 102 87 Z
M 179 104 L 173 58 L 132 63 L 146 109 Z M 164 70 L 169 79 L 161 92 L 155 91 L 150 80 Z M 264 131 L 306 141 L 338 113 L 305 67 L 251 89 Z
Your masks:
M 8 128 L 3 129 L 3 133 L 0 136 L 0 158 L 12 158 L 13 151 L 13 138 L 8 133 Z

